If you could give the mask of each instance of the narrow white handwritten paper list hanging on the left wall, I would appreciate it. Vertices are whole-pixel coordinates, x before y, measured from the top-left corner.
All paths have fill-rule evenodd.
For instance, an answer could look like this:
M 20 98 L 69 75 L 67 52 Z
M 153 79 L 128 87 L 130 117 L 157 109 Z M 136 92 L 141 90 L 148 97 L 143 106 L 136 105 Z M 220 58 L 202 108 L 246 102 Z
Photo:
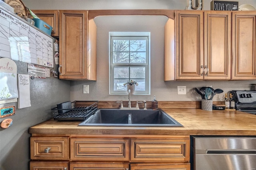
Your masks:
M 18 109 L 30 107 L 30 83 L 29 75 L 18 74 Z

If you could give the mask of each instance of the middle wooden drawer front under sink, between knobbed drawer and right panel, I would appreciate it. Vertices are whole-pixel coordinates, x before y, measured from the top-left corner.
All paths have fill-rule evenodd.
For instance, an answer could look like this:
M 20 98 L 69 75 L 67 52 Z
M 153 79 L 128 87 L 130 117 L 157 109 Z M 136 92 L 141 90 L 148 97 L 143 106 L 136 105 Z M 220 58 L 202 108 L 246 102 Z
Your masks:
M 71 160 L 129 161 L 127 138 L 71 138 Z

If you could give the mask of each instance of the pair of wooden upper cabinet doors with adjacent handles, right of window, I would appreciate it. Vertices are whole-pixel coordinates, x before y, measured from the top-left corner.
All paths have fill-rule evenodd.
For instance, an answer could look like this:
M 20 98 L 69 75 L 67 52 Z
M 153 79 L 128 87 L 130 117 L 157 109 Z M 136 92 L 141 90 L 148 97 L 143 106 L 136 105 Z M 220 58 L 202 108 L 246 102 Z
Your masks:
M 230 80 L 231 13 L 178 10 L 175 24 L 175 79 Z

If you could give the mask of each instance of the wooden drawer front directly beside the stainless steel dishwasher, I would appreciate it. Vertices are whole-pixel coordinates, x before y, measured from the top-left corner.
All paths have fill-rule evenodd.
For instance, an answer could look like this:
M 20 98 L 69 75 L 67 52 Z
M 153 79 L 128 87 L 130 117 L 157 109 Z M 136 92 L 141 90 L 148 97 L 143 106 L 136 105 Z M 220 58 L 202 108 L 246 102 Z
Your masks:
M 190 139 L 131 138 L 131 161 L 189 161 Z

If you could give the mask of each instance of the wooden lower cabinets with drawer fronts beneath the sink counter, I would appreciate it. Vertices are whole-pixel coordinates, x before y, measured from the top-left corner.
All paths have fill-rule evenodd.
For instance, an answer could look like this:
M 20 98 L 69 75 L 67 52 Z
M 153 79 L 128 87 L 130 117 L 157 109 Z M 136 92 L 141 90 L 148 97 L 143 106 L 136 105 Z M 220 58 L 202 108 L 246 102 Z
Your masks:
M 190 136 L 36 134 L 30 142 L 30 170 L 190 170 Z

